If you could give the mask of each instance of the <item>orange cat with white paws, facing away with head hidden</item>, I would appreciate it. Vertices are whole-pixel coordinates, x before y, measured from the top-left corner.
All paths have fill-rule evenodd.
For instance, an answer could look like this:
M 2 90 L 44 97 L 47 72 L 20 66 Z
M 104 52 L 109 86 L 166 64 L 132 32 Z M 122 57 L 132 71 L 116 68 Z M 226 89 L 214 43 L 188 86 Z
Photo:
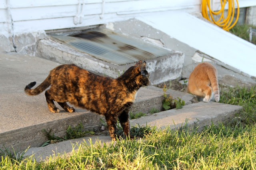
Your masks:
M 220 100 L 220 91 L 218 87 L 217 70 L 210 63 L 198 64 L 188 79 L 187 92 L 204 97 L 204 102 L 209 102 L 214 95 L 216 102 Z

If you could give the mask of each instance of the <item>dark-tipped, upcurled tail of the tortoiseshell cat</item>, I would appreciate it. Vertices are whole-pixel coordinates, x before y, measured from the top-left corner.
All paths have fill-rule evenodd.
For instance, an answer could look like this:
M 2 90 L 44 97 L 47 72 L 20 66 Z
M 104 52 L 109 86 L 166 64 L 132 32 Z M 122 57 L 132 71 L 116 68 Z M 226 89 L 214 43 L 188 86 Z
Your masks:
M 34 95 L 39 95 L 42 93 L 45 89 L 47 89 L 51 85 L 50 81 L 50 75 L 35 89 L 31 89 L 36 85 L 36 81 L 29 83 L 26 85 L 24 91 L 27 95 L 34 96 Z

